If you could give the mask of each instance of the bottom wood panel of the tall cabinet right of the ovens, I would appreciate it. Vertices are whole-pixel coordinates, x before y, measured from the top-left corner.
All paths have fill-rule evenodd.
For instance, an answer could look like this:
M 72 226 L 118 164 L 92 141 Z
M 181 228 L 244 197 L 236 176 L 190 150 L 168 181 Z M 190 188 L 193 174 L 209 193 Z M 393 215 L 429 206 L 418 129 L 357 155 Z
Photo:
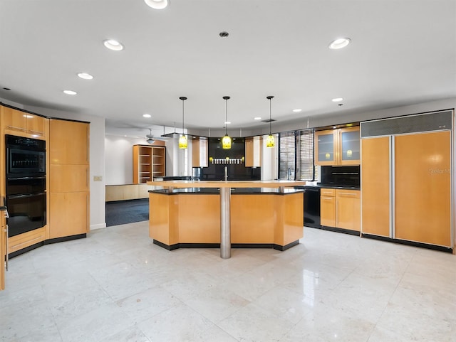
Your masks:
M 88 233 L 88 192 L 51 193 L 49 203 L 51 239 Z

